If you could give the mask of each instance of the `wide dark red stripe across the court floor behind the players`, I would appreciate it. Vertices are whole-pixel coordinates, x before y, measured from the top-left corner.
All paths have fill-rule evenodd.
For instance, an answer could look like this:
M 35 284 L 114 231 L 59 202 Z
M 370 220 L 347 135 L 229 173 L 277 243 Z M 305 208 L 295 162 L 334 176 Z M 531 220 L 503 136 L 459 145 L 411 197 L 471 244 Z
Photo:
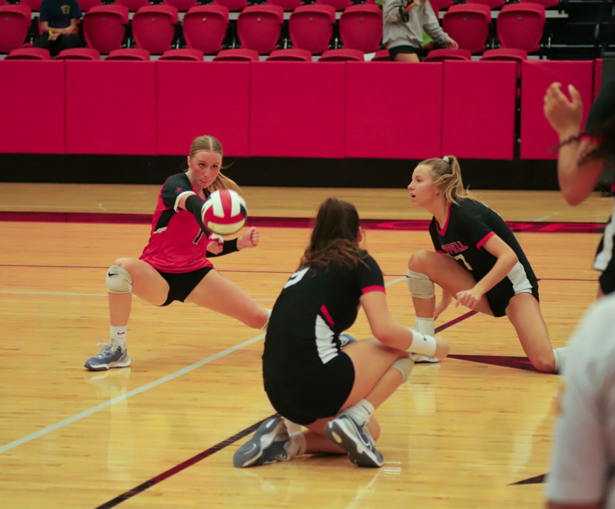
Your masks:
M 38 222 L 38 223 L 110 223 L 110 224 L 150 224 L 148 214 L 108 214 L 108 213 L 63 213 L 63 212 L 0 212 L 0 221 Z M 428 230 L 430 220 L 381 220 L 364 219 L 361 224 L 372 230 Z M 312 218 L 262 218 L 251 217 L 249 226 L 278 228 L 312 227 Z M 604 223 L 531 223 L 508 221 L 513 232 L 531 233 L 602 233 Z

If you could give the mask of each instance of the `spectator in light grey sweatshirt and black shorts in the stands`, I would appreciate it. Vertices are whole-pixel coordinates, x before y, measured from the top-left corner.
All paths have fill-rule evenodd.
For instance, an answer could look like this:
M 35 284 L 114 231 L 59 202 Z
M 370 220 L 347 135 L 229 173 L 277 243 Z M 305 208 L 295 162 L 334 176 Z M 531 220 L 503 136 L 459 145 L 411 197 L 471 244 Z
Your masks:
M 442 30 L 429 0 L 383 0 L 383 44 L 396 62 L 420 62 L 423 30 L 435 43 L 457 49 Z

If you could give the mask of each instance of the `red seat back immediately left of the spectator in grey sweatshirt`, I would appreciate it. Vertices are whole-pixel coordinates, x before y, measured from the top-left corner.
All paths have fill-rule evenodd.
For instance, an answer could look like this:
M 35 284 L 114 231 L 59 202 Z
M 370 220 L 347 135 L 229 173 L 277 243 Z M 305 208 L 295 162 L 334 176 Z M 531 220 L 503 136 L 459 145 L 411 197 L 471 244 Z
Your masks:
M 382 41 L 382 11 L 375 4 L 353 5 L 339 18 L 339 35 L 344 48 L 373 53 Z

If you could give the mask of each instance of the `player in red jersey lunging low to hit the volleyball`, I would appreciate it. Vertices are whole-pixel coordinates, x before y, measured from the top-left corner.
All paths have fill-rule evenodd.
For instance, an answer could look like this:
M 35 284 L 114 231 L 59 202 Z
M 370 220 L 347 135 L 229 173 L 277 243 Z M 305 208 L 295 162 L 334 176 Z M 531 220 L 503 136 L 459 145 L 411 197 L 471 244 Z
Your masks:
M 251 227 L 243 237 L 225 242 L 202 223 L 201 208 L 209 193 L 239 190 L 220 173 L 222 144 L 213 136 L 199 136 L 192 142 L 187 164 L 185 173 L 170 176 L 160 188 L 150 240 L 141 257 L 118 258 L 107 272 L 110 341 L 99 343 L 99 353 L 85 361 L 89 370 L 130 365 L 126 328 L 133 293 L 155 306 L 192 302 L 247 326 L 266 328 L 271 311 L 219 274 L 207 259 L 256 247 L 260 240 Z

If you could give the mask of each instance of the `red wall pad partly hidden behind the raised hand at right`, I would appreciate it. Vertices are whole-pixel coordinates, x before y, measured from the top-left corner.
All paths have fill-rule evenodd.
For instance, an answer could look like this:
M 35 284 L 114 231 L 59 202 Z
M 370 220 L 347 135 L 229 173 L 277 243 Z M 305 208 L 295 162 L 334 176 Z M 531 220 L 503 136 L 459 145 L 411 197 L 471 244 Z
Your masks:
M 551 152 L 559 143 L 544 113 L 544 97 L 549 85 L 558 81 L 568 94 L 568 84 L 579 90 L 583 104 L 592 104 L 594 61 L 528 60 L 523 63 L 521 83 L 521 159 L 557 159 Z M 583 109 L 583 124 L 589 107 Z

